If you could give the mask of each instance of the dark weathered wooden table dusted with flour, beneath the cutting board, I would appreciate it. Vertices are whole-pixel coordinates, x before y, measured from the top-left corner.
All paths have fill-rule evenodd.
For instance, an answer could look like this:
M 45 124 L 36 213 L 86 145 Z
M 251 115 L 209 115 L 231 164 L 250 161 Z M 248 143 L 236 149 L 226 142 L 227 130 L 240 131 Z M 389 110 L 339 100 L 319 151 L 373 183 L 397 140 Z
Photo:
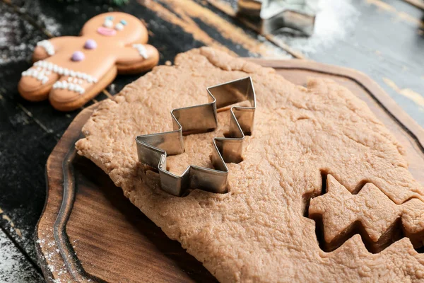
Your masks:
M 424 12 L 421 0 L 321 0 L 315 34 L 258 36 L 234 18 L 235 0 L 0 1 L 0 282 L 42 282 L 33 231 L 45 202 L 45 162 L 80 110 L 57 112 L 18 95 L 37 41 L 77 35 L 98 13 L 125 11 L 148 25 L 160 64 L 210 45 L 242 57 L 307 58 L 351 67 L 377 81 L 424 126 Z M 408 4 L 415 2 L 417 6 Z M 137 76 L 117 79 L 88 105 Z M 88 106 L 86 105 L 86 107 Z

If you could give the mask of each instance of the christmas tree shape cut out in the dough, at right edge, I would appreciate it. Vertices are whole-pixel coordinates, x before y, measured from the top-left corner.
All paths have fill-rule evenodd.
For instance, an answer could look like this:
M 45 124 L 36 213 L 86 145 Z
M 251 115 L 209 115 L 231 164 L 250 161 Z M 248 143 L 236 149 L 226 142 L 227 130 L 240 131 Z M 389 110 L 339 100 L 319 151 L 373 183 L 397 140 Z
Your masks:
M 317 237 L 324 233 L 321 246 L 325 251 L 335 250 L 355 233 L 371 253 L 379 253 L 404 236 L 414 248 L 424 246 L 424 202 L 412 198 L 395 204 L 372 183 L 365 183 L 353 195 L 327 175 L 323 195 L 310 200 L 309 217 L 317 223 Z

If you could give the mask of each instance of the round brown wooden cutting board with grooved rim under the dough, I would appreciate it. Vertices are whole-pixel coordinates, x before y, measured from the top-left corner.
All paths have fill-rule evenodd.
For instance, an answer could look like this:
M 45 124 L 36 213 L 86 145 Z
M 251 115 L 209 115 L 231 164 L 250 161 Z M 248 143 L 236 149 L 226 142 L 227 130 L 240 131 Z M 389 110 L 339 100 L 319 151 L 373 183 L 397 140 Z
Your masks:
M 305 85 L 331 78 L 364 100 L 404 144 L 409 170 L 424 184 L 424 130 L 377 83 L 358 71 L 302 60 L 250 59 Z M 216 282 L 200 262 L 134 207 L 74 143 L 96 105 L 73 120 L 49 156 L 47 201 L 35 231 L 48 282 Z M 136 134 L 136 133 L 135 133 Z

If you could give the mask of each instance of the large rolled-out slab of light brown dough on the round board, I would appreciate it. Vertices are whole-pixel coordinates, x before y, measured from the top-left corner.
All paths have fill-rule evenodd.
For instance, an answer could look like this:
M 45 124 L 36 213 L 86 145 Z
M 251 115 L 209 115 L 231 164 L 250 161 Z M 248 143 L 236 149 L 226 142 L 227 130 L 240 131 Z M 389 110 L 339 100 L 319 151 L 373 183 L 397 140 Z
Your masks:
M 157 174 L 138 162 L 134 137 L 172 129 L 170 110 L 206 103 L 207 86 L 245 76 L 252 76 L 257 110 L 243 161 L 228 164 L 230 192 L 173 197 L 160 190 Z M 170 171 L 211 167 L 212 138 L 228 129 L 228 115 L 218 113 L 215 132 L 185 137 L 184 154 L 167 158 Z M 424 256 L 413 246 L 421 245 L 423 187 L 408 172 L 398 141 L 363 101 L 333 81 L 295 86 L 273 69 L 204 47 L 179 54 L 175 66 L 157 67 L 103 101 L 83 134 L 78 153 L 220 282 L 424 280 Z M 305 196 L 322 194 L 322 172 L 331 185 L 310 201 L 310 212 L 322 215 L 330 243 L 358 219 L 370 241 L 391 233 L 396 221 L 404 238 L 376 245 L 375 253 L 355 234 L 360 231 L 350 231 L 336 250 L 322 250 L 315 221 L 304 216 Z M 370 184 L 358 192 L 364 180 Z

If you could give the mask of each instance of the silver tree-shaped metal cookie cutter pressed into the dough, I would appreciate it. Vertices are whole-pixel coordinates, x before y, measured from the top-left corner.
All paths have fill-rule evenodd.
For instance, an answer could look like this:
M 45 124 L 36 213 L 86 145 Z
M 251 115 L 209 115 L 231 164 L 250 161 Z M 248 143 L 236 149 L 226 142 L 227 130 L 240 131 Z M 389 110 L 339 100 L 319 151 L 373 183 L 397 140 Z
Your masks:
M 228 192 L 228 168 L 225 163 L 242 161 L 243 139 L 245 134 L 252 133 L 256 96 L 249 76 L 211 86 L 206 90 L 209 103 L 171 111 L 173 124 L 171 132 L 143 134 L 136 137 L 139 161 L 158 168 L 160 185 L 171 195 L 182 196 L 189 188 L 208 192 Z M 226 137 L 213 138 L 211 161 L 214 169 L 191 165 L 182 175 L 167 171 L 166 156 L 184 152 L 184 135 L 216 129 L 217 109 L 244 100 L 250 102 L 249 107 L 232 106 L 230 109 L 230 129 L 228 134 L 225 134 Z

